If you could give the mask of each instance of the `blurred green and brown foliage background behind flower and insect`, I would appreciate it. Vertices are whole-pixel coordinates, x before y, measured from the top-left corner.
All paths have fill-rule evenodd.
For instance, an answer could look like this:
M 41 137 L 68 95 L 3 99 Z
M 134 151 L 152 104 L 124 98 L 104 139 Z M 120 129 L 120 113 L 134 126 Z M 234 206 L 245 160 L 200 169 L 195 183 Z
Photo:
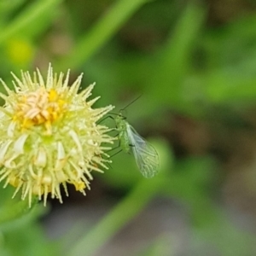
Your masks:
M 144 179 L 119 153 L 86 197 L 0 221 L 0 255 L 256 254 L 254 1 L 1 0 L 0 58 L 10 87 L 51 62 L 96 81 L 96 107 L 142 95 L 127 120 L 161 162 Z

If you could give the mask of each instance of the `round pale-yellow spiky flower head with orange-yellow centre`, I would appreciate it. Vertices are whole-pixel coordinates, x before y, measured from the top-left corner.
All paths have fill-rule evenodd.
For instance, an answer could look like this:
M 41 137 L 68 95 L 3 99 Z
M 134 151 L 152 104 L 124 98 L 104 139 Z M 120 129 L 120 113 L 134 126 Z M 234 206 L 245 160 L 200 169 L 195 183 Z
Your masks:
M 91 171 L 107 168 L 113 137 L 97 121 L 113 106 L 91 108 L 99 99 L 88 101 L 95 84 L 79 92 L 82 75 L 68 86 L 69 71 L 64 79 L 50 65 L 46 81 L 39 70 L 33 78 L 12 75 L 15 90 L 1 80 L 7 95 L 0 93 L 0 181 L 16 188 L 14 196 L 20 190 L 29 205 L 33 195 L 45 205 L 49 193 L 62 202 L 61 185 L 67 194 L 67 183 L 85 194 Z

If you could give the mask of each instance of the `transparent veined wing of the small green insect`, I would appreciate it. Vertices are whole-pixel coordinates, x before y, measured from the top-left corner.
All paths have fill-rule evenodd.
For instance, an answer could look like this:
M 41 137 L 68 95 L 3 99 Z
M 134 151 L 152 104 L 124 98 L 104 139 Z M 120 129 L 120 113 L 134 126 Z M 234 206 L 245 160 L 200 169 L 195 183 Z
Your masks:
M 128 123 L 127 134 L 140 172 L 144 177 L 154 177 L 160 168 L 160 160 L 156 150 Z

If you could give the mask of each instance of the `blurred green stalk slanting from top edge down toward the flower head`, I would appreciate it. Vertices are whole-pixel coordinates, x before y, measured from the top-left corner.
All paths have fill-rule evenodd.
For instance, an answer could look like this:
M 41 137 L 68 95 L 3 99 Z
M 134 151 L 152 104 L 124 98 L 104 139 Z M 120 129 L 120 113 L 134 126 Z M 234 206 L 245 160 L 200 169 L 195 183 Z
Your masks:
M 106 15 L 102 16 L 96 25 L 80 38 L 78 44 L 73 46 L 69 55 L 61 60 L 58 65 L 60 70 L 66 70 L 69 67 L 73 69 L 79 67 L 87 61 L 91 55 L 106 44 L 109 38 L 139 9 L 143 3 L 148 0 L 120 0 L 108 10 Z

